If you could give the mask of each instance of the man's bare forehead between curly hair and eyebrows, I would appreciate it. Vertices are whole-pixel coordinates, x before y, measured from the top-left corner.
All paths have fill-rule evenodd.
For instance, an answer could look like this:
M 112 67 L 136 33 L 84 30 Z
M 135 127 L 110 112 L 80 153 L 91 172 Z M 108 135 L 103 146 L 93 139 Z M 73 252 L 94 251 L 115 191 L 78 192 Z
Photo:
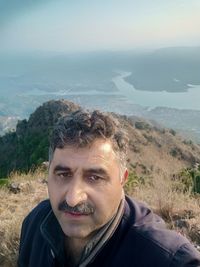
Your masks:
M 53 155 L 52 164 L 63 164 L 75 166 L 85 165 L 109 165 L 116 161 L 116 154 L 110 141 L 97 140 L 91 146 L 77 148 L 74 146 L 65 146 L 56 148 Z

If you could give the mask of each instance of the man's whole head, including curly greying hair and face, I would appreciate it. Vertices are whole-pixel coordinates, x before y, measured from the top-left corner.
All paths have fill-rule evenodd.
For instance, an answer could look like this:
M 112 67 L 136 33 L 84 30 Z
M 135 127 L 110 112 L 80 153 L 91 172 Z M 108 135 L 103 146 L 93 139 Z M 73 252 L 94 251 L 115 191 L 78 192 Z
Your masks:
M 79 110 L 60 119 L 50 142 L 48 190 L 66 236 L 89 238 L 115 215 L 127 178 L 127 145 L 111 115 Z

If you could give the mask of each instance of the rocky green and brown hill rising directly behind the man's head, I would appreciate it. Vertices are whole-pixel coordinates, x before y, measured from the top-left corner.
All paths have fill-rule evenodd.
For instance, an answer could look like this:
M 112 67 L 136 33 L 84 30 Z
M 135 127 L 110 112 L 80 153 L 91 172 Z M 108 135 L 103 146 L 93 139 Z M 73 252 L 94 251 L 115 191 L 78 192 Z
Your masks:
M 48 160 L 48 136 L 54 123 L 78 105 L 67 100 L 45 102 L 16 131 L 0 137 L 0 177 L 28 171 Z M 114 114 L 130 137 L 129 166 L 138 175 L 172 175 L 200 163 L 200 146 L 181 139 L 174 130 L 138 117 Z

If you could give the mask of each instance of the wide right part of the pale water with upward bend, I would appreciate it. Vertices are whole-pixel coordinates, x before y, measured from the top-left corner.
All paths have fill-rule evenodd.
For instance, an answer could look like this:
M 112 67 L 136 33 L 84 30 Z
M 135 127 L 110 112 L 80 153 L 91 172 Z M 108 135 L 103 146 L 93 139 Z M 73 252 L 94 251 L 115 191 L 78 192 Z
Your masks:
M 112 79 L 119 93 L 127 98 L 127 102 L 142 106 L 169 107 L 177 109 L 200 110 L 200 85 L 188 85 L 190 88 L 186 92 L 151 92 L 136 90 L 134 86 L 124 80 L 131 75 L 131 72 L 118 71 L 116 77 Z M 176 78 L 174 78 L 176 82 Z

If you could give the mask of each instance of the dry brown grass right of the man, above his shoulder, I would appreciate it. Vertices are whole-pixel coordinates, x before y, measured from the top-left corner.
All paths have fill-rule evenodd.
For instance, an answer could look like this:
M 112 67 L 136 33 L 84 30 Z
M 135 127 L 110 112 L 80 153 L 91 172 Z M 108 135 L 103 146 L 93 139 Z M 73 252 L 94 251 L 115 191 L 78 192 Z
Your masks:
M 168 176 L 156 176 L 149 183 L 138 184 L 132 196 L 147 203 L 174 229 L 200 248 L 200 195 L 183 192 L 180 182 Z

